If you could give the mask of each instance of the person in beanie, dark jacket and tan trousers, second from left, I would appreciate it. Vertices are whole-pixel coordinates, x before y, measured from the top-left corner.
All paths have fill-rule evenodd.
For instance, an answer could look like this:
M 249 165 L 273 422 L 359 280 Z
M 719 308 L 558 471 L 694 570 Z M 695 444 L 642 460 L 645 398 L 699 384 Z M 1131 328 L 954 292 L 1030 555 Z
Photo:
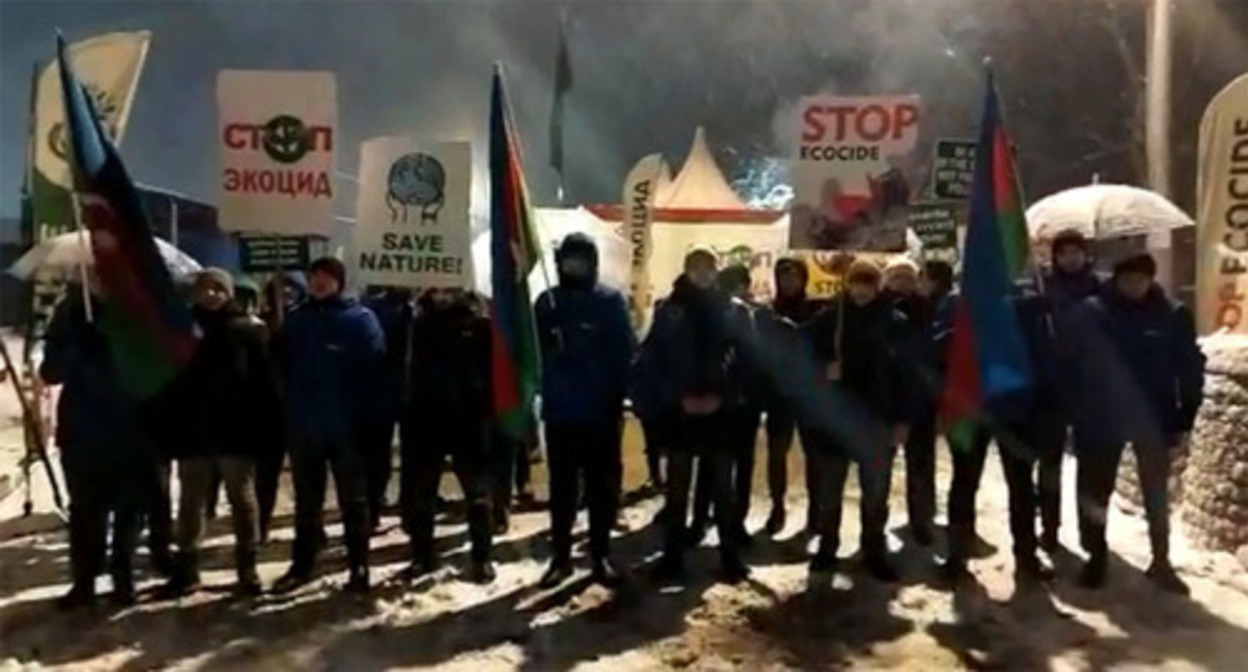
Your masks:
M 147 408 L 177 460 L 181 498 L 177 561 L 166 585 L 182 596 L 200 585 L 200 541 L 220 475 L 230 501 L 238 590 L 260 595 L 256 545 L 256 457 L 273 441 L 268 416 L 277 407 L 277 376 L 263 322 L 233 301 L 233 279 L 221 269 L 195 277 L 196 325 L 202 334 L 187 368 Z

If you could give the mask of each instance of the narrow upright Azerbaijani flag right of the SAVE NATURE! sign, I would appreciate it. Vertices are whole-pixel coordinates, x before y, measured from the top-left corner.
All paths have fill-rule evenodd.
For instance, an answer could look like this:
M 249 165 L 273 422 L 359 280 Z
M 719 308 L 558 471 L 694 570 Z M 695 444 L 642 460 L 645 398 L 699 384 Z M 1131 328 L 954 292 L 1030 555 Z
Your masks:
M 508 435 L 524 440 L 542 367 L 529 292 L 540 250 L 502 65 L 494 66 L 489 101 L 489 234 L 494 412 Z

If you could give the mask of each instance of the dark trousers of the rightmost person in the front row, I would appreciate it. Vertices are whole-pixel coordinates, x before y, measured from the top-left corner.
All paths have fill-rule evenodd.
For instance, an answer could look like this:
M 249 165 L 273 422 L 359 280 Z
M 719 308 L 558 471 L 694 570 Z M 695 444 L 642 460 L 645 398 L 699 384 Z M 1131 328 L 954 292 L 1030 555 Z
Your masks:
M 1109 513 L 1109 498 L 1113 496 L 1124 446 L 1082 441 L 1078 447 L 1076 490 L 1080 538 L 1088 555 L 1103 557 L 1108 551 L 1106 518 Z M 1144 498 L 1144 517 L 1148 520 L 1148 541 L 1152 545 L 1153 562 L 1169 562 L 1169 450 L 1163 446 L 1138 445 L 1133 445 L 1132 450 L 1136 451 L 1139 492 Z

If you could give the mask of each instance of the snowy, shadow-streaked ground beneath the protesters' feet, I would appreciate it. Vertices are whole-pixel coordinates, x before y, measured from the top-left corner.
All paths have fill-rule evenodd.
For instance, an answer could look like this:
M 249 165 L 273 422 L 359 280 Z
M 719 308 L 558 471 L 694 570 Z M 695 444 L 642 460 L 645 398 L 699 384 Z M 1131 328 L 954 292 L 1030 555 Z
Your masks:
M 626 481 L 635 486 L 644 468 L 635 427 L 628 443 Z M 1051 590 L 1016 593 L 995 456 L 978 513 L 980 533 L 996 550 L 972 565 L 977 586 L 957 592 L 941 587 L 931 553 L 905 546 L 904 530 L 894 540 L 904 572 L 899 586 L 865 578 L 852 562 L 830 585 L 809 585 L 805 548 L 791 538 L 802 523 L 805 500 L 796 455 L 791 467 L 797 487 L 790 495 L 789 530 L 778 542 L 755 541 L 754 577 L 739 587 L 711 582 L 716 556 L 709 546 L 694 555 L 694 582 L 685 590 L 659 591 L 645 582 L 645 565 L 659 546 L 651 525 L 656 501 L 626 512 L 629 531 L 615 543 L 619 557 L 636 567 L 638 583 L 618 595 L 588 587 L 583 576 L 564 590 L 535 588 L 548 552 L 545 513 L 518 516 L 512 532 L 498 540 L 499 578 L 485 588 L 456 578 L 466 562 L 467 532 L 452 520 L 439 528 L 448 570 L 438 581 L 413 586 L 398 577 L 408 553 L 402 533 L 391 530 L 373 542 L 379 586 L 369 598 L 333 590 L 343 580 L 337 548 L 321 583 L 292 597 L 256 601 L 228 593 L 233 576 L 228 522 L 222 520 L 207 553 L 208 588 L 200 595 L 181 603 L 149 595 L 121 612 L 77 615 L 52 608 L 66 588 L 65 536 L 12 540 L 0 543 L 0 661 L 65 670 L 307 672 L 1248 668 L 1248 581 L 1239 565 L 1226 555 L 1192 551 L 1177 532 L 1174 556 L 1193 597 L 1162 595 L 1141 576 L 1148 545 L 1144 525 L 1133 515 L 1113 513 L 1111 543 L 1121 555 L 1103 592 L 1075 587 L 1077 558 L 1061 555 Z M 942 488 L 947 467 L 942 462 Z M 540 480 L 543 471 L 537 473 Z M 900 461 L 896 483 L 892 511 L 900 526 Z M 763 487 L 760 478 L 760 493 Z M 851 488 L 850 510 L 857 500 L 856 486 Z M 267 581 L 286 567 L 285 513 L 282 533 L 262 552 Z M 753 526 L 765 515 L 766 505 L 756 501 Z M 1076 548 L 1071 492 L 1066 520 L 1063 542 Z M 842 547 L 852 552 L 854 511 L 845 521 Z M 4 662 L 0 670 L 7 670 Z

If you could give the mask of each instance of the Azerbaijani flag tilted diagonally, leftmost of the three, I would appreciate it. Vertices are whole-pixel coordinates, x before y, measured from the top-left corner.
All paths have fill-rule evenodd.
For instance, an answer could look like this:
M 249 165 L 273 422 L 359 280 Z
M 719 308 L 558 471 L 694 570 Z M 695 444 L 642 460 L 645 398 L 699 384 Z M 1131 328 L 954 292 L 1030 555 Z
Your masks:
M 195 352 L 195 324 L 156 247 L 139 190 L 100 126 L 57 34 L 65 121 L 81 222 L 102 285 L 99 320 L 121 382 L 136 398 L 161 391 Z

